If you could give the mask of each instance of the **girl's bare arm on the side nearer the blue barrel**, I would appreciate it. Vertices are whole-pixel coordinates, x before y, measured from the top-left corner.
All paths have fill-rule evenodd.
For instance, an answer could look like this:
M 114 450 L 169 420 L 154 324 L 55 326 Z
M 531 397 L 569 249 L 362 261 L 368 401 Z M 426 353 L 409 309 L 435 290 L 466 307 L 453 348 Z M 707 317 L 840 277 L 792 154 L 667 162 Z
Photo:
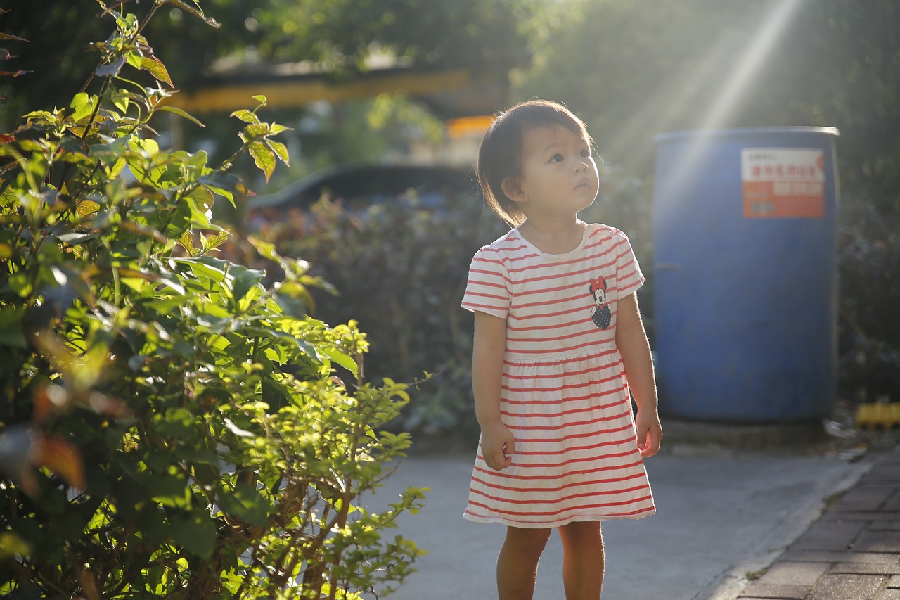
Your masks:
M 637 446 L 642 456 L 650 457 L 660 450 L 662 425 L 650 342 L 647 341 L 634 293 L 617 301 L 616 345 L 625 366 L 628 387 L 637 405 Z

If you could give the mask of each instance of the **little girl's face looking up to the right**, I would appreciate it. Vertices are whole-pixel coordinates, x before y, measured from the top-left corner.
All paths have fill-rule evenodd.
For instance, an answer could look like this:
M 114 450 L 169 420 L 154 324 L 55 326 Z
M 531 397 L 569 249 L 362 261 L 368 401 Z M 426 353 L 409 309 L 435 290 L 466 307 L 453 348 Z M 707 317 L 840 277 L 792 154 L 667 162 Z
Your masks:
M 563 126 L 525 134 L 522 175 L 507 195 L 527 218 L 574 218 L 594 202 L 598 189 L 597 164 L 587 140 Z

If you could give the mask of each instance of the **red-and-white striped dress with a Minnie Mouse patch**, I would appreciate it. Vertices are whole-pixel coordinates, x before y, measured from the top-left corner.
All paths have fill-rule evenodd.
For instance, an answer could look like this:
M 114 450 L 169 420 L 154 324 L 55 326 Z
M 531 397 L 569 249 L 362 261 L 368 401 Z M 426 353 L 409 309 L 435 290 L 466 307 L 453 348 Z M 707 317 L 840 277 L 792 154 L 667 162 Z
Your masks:
M 481 445 L 466 519 L 516 527 L 655 512 L 616 347 L 616 301 L 644 283 L 628 238 L 583 224 L 575 250 L 545 254 L 518 230 L 479 250 L 463 307 L 507 322 L 500 416 L 512 465 Z

